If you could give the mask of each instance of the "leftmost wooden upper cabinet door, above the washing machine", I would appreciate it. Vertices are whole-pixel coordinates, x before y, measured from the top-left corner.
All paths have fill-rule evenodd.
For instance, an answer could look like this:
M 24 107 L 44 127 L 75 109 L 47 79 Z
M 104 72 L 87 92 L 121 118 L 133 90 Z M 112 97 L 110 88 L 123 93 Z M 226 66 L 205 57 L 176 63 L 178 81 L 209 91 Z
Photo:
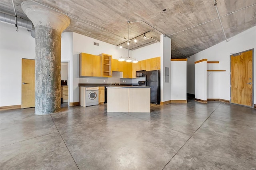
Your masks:
M 92 55 L 80 53 L 80 76 L 92 76 Z

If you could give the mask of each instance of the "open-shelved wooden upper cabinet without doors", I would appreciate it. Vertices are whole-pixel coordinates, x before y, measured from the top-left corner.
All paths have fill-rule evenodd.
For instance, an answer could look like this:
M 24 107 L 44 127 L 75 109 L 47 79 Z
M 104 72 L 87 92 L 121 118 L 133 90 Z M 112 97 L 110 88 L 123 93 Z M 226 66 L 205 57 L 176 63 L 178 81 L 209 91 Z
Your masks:
M 100 54 L 102 57 L 102 77 L 112 77 L 112 55 Z

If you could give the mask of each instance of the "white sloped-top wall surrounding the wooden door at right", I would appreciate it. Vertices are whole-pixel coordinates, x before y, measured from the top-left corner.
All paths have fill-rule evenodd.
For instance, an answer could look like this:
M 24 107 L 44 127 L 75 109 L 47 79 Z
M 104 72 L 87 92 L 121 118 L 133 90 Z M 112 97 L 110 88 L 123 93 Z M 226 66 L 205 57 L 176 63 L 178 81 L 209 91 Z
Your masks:
M 218 98 L 230 100 L 230 54 L 239 53 L 248 49 L 254 49 L 254 89 L 256 88 L 256 26 L 250 28 L 228 40 L 218 43 L 204 51 L 190 56 L 188 59 L 188 77 L 194 76 L 193 65 L 194 61 L 207 58 L 208 61 L 220 61 L 218 69 L 226 70 L 225 72 L 218 72 L 208 74 L 208 81 L 218 81 L 217 86 L 212 86 L 208 91 L 214 91 L 214 94 L 208 94 L 208 98 Z M 211 67 L 211 66 L 208 66 Z M 213 75 L 214 74 L 214 75 Z M 211 77 L 212 76 L 212 77 Z M 194 79 L 188 79 L 188 93 L 195 94 Z M 189 87 L 189 85 L 191 85 Z M 217 96 L 217 95 L 218 96 Z M 256 104 L 256 95 L 254 94 L 254 104 Z

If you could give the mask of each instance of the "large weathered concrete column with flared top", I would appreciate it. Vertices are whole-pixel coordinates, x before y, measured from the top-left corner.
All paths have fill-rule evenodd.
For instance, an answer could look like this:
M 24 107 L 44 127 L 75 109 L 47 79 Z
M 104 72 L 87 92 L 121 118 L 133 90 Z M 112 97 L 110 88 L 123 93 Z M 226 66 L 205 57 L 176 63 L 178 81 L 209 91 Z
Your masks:
M 36 29 L 35 114 L 56 113 L 60 111 L 61 33 L 70 19 L 31 1 L 22 2 L 21 8 Z

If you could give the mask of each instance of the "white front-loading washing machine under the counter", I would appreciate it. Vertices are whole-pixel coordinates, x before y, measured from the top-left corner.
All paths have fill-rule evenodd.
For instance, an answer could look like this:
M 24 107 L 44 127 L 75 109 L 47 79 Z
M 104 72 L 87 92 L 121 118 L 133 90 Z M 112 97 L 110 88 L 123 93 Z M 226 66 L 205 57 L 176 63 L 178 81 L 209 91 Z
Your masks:
M 99 104 L 99 87 L 86 87 L 85 106 Z

